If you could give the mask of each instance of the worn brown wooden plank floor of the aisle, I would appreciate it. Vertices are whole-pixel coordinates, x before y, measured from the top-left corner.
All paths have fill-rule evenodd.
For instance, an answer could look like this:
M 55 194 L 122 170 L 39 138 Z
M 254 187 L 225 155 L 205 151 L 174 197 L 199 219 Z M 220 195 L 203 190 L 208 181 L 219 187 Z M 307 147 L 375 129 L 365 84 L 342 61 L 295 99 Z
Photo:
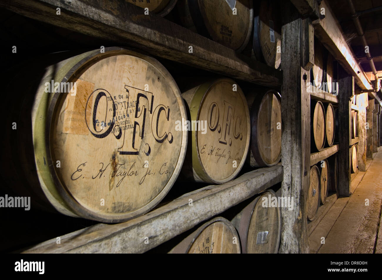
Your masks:
M 382 147 L 373 157 L 351 182 L 351 197 L 332 195 L 322 219 L 308 225 L 311 253 L 382 253 Z

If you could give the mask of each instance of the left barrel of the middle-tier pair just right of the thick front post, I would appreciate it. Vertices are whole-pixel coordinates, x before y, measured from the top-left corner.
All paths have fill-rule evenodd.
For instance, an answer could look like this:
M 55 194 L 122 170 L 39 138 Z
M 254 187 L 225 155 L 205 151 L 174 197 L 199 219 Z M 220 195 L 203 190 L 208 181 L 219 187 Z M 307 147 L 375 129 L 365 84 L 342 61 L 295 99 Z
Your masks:
M 325 110 L 320 101 L 311 100 L 311 149 L 322 151 L 325 144 Z

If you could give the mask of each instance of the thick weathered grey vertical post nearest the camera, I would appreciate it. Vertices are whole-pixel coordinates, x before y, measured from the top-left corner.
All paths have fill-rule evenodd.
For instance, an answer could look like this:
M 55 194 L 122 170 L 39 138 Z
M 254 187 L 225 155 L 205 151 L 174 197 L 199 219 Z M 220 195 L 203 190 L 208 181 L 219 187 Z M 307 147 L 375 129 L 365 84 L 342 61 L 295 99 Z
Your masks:
M 309 70 L 313 62 L 313 32 L 310 19 L 299 18 L 282 27 L 282 196 L 293 197 L 295 206 L 293 210 L 281 209 L 282 253 L 309 252 L 306 200 L 311 139 L 307 83 L 310 81 Z

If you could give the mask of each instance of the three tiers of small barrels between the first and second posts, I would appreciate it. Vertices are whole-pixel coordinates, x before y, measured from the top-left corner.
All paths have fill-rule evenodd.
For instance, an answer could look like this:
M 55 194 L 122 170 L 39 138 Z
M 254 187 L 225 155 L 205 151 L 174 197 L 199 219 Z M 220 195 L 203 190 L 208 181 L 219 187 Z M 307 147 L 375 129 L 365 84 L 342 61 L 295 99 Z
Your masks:
M 324 53 L 326 53 L 324 60 Z M 314 42 L 314 66 L 311 68 L 311 83 L 323 91 L 332 93 L 333 57 Z M 338 108 L 328 102 L 311 99 L 311 152 L 320 152 L 338 141 Z M 310 170 L 308 191 L 308 220 L 314 220 L 320 204 L 324 204 L 328 191 L 337 188 L 337 157 L 321 160 Z

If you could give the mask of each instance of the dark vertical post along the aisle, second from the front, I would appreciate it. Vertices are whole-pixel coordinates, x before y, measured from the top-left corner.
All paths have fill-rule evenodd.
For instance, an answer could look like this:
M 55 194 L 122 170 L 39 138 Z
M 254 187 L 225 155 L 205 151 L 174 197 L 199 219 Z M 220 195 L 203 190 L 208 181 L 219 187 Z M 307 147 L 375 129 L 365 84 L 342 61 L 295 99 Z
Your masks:
M 350 98 L 354 95 L 354 77 L 345 76 L 338 80 L 338 126 L 339 145 L 338 151 L 338 189 L 340 196 L 350 196 L 351 182 L 351 156 L 349 147 L 351 146 L 351 103 Z

